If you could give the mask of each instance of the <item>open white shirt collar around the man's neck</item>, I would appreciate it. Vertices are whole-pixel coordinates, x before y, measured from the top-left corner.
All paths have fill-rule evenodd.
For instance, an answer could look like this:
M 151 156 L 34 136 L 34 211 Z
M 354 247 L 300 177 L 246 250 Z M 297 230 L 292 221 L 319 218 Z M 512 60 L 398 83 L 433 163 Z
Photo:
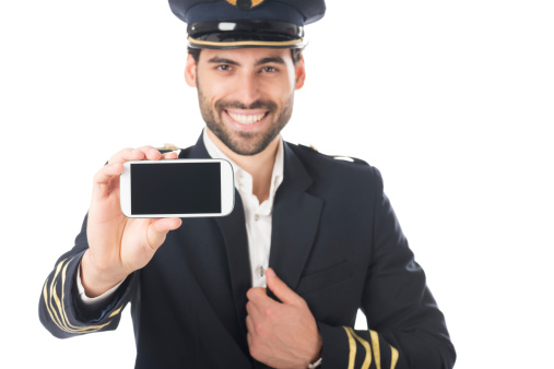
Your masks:
M 235 162 L 229 159 L 225 154 L 223 154 L 223 152 L 210 139 L 205 129 L 202 132 L 202 139 L 204 142 L 205 150 L 208 151 L 210 157 L 225 159 L 231 163 L 231 165 L 233 166 L 233 171 L 235 172 L 235 188 L 239 191 L 245 191 L 251 194 L 252 176 L 248 171 L 240 168 Z M 273 202 L 273 198 L 275 197 L 275 192 L 279 189 L 279 186 L 283 182 L 283 171 L 284 171 L 283 169 L 284 169 L 283 139 L 280 136 L 278 152 L 275 155 L 275 162 L 273 164 L 273 172 L 271 174 L 271 187 L 269 192 L 269 199 L 271 200 L 271 202 Z M 245 176 L 247 177 L 246 187 L 244 186 L 245 181 L 243 180 Z

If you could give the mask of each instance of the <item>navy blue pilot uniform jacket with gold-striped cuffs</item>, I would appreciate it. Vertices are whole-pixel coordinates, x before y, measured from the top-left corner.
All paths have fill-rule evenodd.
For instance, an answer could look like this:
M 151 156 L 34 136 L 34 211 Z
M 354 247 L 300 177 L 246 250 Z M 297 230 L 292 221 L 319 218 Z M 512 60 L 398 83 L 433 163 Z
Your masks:
M 209 155 L 200 139 L 180 157 Z M 40 295 L 40 321 L 55 336 L 115 330 L 130 301 L 135 368 L 264 368 L 250 357 L 246 341 L 251 281 L 238 192 L 229 216 L 184 218 L 102 311 L 89 311 L 76 298 L 76 267 L 87 247 L 85 218 Z M 316 318 L 322 368 L 453 366 L 443 313 L 376 168 L 285 143 L 270 266 Z M 369 330 L 352 329 L 358 309 Z

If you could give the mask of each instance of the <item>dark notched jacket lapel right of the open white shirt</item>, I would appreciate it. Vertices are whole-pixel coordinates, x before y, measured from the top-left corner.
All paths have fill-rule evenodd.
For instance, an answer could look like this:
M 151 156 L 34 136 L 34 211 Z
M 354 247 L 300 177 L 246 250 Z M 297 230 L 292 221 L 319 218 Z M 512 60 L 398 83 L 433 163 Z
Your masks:
M 323 200 L 306 192 L 313 178 L 288 145 L 283 147 L 284 176 L 273 204 L 269 264 L 296 289 L 314 245 Z

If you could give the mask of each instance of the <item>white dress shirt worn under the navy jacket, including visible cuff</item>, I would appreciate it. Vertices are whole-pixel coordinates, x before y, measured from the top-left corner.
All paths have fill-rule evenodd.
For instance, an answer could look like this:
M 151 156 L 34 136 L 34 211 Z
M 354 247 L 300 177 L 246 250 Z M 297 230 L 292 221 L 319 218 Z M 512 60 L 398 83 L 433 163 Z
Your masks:
M 243 201 L 243 207 L 245 210 L 252 287 L 266 287 L 266 270 L 269 266 L 269 253 L 271 248 L 273 200 L 275 199 L 275 192 L 279 186 L 283 182 L 283 140 L 279 140 L 273 172 L 271 174 L 269 199 L 260 204 L 258 198 L 252 193 L 252 176 L 223 154 L 212 140 L 210 140 L 205 129 L 202 133 L 202 139 L 210 157 L 226 159 L 233 166 L 233 171 L 235 172 L 235 188 L 240 193 L 240 200 Z M 123 283 L 123 281 L 98 297 L 87 297 L 81 283 L 81 266 L 79 266 L 76 286 L 82 301 L 86 305 L 101 303 L 106 300 L 116 291 L 121 283 Z

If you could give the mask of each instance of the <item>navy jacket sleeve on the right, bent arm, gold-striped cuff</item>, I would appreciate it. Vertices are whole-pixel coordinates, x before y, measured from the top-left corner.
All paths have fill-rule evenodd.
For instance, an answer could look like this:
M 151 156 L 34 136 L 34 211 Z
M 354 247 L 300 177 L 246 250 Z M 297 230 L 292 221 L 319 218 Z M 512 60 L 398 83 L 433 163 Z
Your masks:
M 452 368 L 456 352 L 443 313 L 414 261 L 377 169 L 373 258 L 362 298 L 367 331 L 319 323 L 325 368 Z

